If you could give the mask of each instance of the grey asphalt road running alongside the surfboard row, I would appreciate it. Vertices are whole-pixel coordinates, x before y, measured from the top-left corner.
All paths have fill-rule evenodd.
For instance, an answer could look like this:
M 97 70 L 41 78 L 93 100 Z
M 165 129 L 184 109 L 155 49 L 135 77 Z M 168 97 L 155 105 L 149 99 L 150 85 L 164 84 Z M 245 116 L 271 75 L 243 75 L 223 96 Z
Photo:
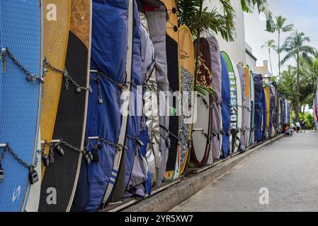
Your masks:
M 318 133 L 266 145 L 171 211 L 318 211 Z

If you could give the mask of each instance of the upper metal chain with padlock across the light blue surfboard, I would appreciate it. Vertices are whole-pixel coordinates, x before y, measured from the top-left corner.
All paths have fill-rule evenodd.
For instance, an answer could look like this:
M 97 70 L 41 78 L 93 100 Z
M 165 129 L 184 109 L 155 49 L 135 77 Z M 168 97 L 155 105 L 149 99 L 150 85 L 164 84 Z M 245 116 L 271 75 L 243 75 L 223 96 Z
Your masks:
M 8 50 L 8 48 L 1 49 L 0 59 L 2 60 L 2 73 L 6 73 L 6 57 L 9 57 L 18 68 L 23 71 L 26 75 L 26 79 L 30 82 L 35 82 L 38 80 L 41 84 L 44 83 L 42 76 L 38 76 L 37 74 L 30 73 L 25 67 L 13 56 L 13 54 Z

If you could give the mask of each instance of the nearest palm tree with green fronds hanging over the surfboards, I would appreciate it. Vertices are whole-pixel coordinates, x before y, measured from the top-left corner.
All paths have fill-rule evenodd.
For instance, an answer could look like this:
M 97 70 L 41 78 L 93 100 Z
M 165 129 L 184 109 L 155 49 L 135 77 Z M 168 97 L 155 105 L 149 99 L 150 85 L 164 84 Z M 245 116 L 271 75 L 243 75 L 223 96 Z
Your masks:
M 215 32 L 220 34 L 227 42 L 234 40 L 236 13 L 232 6 L 231 0 L 219 0 L 223 12 L 219 13 L 217 8 L 208 11 L 208 7 L 203 8 L 205 0 L 178 0 L 178 20 L 180 25 L 187 25 L 195 37 L 200 37 L 202 32 Z M 268 11 L 267 0 L 240 0 L 242 10 L 252 13 L 257 6 L 259 13 L 266 11 L 268 32 L 275 31 L 273 15 Z M 195 53 L 195 85 L 198 73 L 198 47 Z

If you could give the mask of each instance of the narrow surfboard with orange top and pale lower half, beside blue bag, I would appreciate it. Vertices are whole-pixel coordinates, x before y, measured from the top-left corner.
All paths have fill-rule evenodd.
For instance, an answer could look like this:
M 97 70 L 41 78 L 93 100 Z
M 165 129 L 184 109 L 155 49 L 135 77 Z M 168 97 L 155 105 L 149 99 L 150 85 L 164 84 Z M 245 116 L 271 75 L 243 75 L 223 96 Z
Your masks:
M 249 87 L 250 75 L 249 66 L 244 66 L 244 111 L 245 111 L 245 125 L 244 125 L 244 140 L 245 147 L 249 147 L 249 136 L 251 131 L 251 88 Z

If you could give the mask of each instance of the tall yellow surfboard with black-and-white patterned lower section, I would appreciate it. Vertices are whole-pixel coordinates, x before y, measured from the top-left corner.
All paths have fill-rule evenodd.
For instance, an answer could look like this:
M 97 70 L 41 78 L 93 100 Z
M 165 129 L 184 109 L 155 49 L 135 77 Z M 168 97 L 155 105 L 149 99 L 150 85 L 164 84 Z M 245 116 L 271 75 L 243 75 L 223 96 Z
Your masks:
M 180 145 L 180 172 L 186 167 L 188 155 L 190 152 L 191 133 L 192 133 L 192 109 L 191 95 L 194 88 L 195 57 L 191 31 L 186 25 L 179 28 L 180 37 L 180 65 L 181 65 L 181 94 L 182 94 L 182 112 L 179 128 Z

